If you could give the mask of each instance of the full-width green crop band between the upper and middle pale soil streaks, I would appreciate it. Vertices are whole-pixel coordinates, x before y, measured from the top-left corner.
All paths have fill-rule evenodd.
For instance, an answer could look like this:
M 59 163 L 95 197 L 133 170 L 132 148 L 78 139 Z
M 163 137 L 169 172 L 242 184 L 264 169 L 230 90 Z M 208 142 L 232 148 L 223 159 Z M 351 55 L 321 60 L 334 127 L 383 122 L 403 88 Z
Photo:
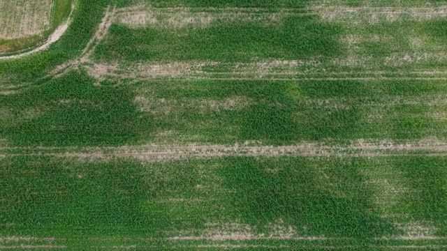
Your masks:
M 73 72 L 0 96 L 0 137 L 11 146 L 444 138 L 447 107 L 439 93 L 446 88 L 442 81 L 94 86 L 94 79 Z

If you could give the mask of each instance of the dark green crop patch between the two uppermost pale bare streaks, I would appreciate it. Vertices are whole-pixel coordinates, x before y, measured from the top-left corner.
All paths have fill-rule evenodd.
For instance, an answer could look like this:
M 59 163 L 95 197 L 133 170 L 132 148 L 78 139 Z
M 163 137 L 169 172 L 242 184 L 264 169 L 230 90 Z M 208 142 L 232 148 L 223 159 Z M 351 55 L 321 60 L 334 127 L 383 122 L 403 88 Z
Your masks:
M 288 17 L 280 26 L 242 22 L 170 30 L 129 29 L 114 24 L 95 56 L 106 61 L 307 59 L 340 54 L 340 33 L 340 26 L 309 16 Z

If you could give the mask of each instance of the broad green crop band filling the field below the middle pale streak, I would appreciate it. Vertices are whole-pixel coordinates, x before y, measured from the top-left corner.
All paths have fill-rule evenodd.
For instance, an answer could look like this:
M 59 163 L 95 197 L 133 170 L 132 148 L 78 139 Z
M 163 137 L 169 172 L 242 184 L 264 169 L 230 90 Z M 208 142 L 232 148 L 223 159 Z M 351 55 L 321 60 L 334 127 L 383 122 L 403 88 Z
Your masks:
M 432 222 L 438 229 L 434 235 L 445 236 L 446 164 L 446 158 L 433 157 L 241 157 L 145 164 L 115 158 L 3 158 L 0 224 L 8 227 L 0 234 L 65 238 L 63 243 L 80 247 L 120 243 L 124 237 L 128 245 L 169 247 L 176 243 L 138 238 L 177 236 L 182 230 L 200 235 L 207 222 L 240 222 L 262 234 L 271 231 L 268 223 L 281 219 L 300 236 L 337 238 L 321 245 L 390 245 L 373 238 L 404 234 L 393 225 L 396 217 Z M 374 202 L 381 188 L 362 171 L 388 167 L 403 176 L 384 178 L 403 181 L 409 189 L 397 197 L 394 216 L 383 218 Z

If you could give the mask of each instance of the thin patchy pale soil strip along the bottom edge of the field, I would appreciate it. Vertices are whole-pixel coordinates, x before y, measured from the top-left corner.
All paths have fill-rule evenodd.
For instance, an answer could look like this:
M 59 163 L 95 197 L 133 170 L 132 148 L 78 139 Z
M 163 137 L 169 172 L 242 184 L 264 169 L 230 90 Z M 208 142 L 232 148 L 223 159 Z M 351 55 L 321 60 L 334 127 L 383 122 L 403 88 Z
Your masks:
M 179 234 L 179 233 L 176 233 Z M 73 236 L 71 236 L 73 238 Z M 396 236 L 395 238 L 387 238 L 388 240 L 398 241 L 398 243 L 376 243 L 377 238 L 364 238 L 365 241 L 373 241 L 370 244 L 358 245 L 356 238 L 350 237 L 325 237 L 325 236 L 298 236 L 295 234 L 280 234 L 274 236 L 268 236 L 265 234 L 251 234 L 244 231 L 226 231 L 223 233 L 214 233 L 207 235 L 193 235 L 193 236 L 173 236 L 173 237 L 91 237 L 86 238 L 84 236 L 75 237 L 77 240 L 85 241 L 89 243 L 86 246 L 76 245 L 77 248 L 94 248 L 94 249 L 159 249 L 159 248 L 294 248 L 294 249 L 361 249 L 374 248 L 374 249 L 393 249 L 393 250 L 419 250 L 419 249 L 436 249 L 445 250 L 447 245 L 445 243 L 446 238 L 434 236 L 420 236 L 421 238 L 409 239 L 406 236 Z M 16 238 L 11 237 L 11 238 Z M 8 237 L 6 237 L 8 239 Z M 50 249 L 65 249 L 74 248 L 71 245 L 54 245 L 52 241 L 45 241 L 44 238 L 34 238 L 32 241 L 6 241 L 1 243 L 0 249 L 30 249 L 30 250 L 50 250 Z M 64 243 L 71 238 L 53 238 L 53 241 Z M 253 241 L 278 241 L 278 243 L 263 244 L 253 243 Z M 104 245 L 109 241 L 115 242 L 112 245 Z M 291 241 L 291 242 L 290 242 Z M 422 243 L 420 241 L 423 241 Z M 436 241 L 430 243 L 431 241 Z M 338 243 L 342 242 L 342 244 Z M 41 244 L 37 244 L 41 243 Z M 45 243 L 45 244 L 42 244 Z M 162 244 L 161 244 L 162 243 Z

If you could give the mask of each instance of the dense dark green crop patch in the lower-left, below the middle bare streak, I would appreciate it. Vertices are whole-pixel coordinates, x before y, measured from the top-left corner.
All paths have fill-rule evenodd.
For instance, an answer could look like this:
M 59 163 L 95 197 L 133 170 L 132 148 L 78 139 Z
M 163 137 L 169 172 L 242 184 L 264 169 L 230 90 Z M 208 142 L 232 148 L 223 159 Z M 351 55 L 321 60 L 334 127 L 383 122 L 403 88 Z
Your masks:
M 8 198 L 1 203 L 1 222 L 15 223 L 2 235 L 115 236 L 167 223 L 162 212 L 140 211 L 142 199 L 151 195 L 134 162 L 13 158 L 2 160 L 1 167 L 8 177 L 1 179 L 1 195 Z M 147 229 L 141 228 L 144 223 Z

